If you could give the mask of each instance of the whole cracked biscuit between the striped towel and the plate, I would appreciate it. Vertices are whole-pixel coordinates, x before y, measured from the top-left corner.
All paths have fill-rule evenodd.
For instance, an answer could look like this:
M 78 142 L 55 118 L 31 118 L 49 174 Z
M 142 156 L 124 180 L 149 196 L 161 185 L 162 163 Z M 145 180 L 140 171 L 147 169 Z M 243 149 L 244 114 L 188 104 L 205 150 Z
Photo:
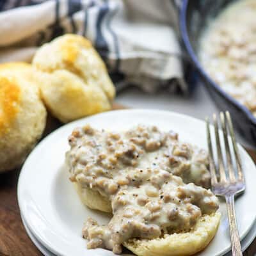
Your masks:
M 111 109 L 115 87 L 90 41 L 64 35 L 43 45 L 33 58 L 47 108 L 62 122 Z

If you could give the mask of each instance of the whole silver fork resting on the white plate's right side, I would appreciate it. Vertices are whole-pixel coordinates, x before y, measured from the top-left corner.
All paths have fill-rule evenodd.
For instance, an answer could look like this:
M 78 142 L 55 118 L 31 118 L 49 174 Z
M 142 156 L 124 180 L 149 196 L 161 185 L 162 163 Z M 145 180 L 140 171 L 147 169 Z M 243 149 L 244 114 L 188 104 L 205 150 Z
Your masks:
M 216 115 L 213 115 L 214 122 L 214 133 L 216 140 L 217 156 L 218 156 L 218 168 L 214 163 L 214 157 L 212 153 L 212 139 L 209 125 L 209 118 L 206 118 L 207 122 L 207 141 L 209 149 L 209 166 L 211 172 L 211 186 L 212 192 L 215 195 L 223 196 L 226 199 L 227 211 L 228 211 L 228 223 L 230 229 L 230 239 L 232 246 L 233 256 L 243 256 L 241 243 L 239 239 L 239 233 L 236 223 L 236 212 L 235 212 L 235 196 L 244 192 L 245 180 L 241 165 L 241 159 L 239 156 L 239 151 L 237 148 L 236 138 L 234 134 L 234 129 L 232 121 L 230 118 L 230 113 L 226 111 L 225 115 L 223 112 L 220 113 L 221 128 L 223 131 L 223 137 L 225 142 L 225 151 L 227 164 L 224 165 L 223 154 L 220 145 L 220 134 L 219 126 Z M 230 143 L 228 142 L 228 131 L 232 140 L 232 147 L 234 150 L 234 156 L 236 161 L 236 167 L 232 163 L 231 153 L 230 153 Z M 227 170 L 227 172 L 226 172 Z M 237 170 L 237 172 L 236 172 Z

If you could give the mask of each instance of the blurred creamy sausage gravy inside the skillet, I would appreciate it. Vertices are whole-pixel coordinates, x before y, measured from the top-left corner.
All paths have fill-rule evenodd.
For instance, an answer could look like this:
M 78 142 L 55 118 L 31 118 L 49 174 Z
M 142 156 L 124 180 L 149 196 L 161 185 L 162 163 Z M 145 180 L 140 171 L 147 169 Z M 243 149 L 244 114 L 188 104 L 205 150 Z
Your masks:
M 256 1 L 229 4 L 200 39 L 203 67 L 256 116 Z

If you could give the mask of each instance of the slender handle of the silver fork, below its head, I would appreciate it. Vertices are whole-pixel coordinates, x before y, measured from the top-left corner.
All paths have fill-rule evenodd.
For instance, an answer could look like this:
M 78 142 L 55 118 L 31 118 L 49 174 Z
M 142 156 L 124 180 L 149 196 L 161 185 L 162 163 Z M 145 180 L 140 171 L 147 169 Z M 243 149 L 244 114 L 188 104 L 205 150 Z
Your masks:
M 233 256 L 243 256 L 241 243 L 236 223 L 235 198 L 234 195 L 226 196 L 226 204 L 228 209 L 228 223 L 230 230 L 230 240 Z

